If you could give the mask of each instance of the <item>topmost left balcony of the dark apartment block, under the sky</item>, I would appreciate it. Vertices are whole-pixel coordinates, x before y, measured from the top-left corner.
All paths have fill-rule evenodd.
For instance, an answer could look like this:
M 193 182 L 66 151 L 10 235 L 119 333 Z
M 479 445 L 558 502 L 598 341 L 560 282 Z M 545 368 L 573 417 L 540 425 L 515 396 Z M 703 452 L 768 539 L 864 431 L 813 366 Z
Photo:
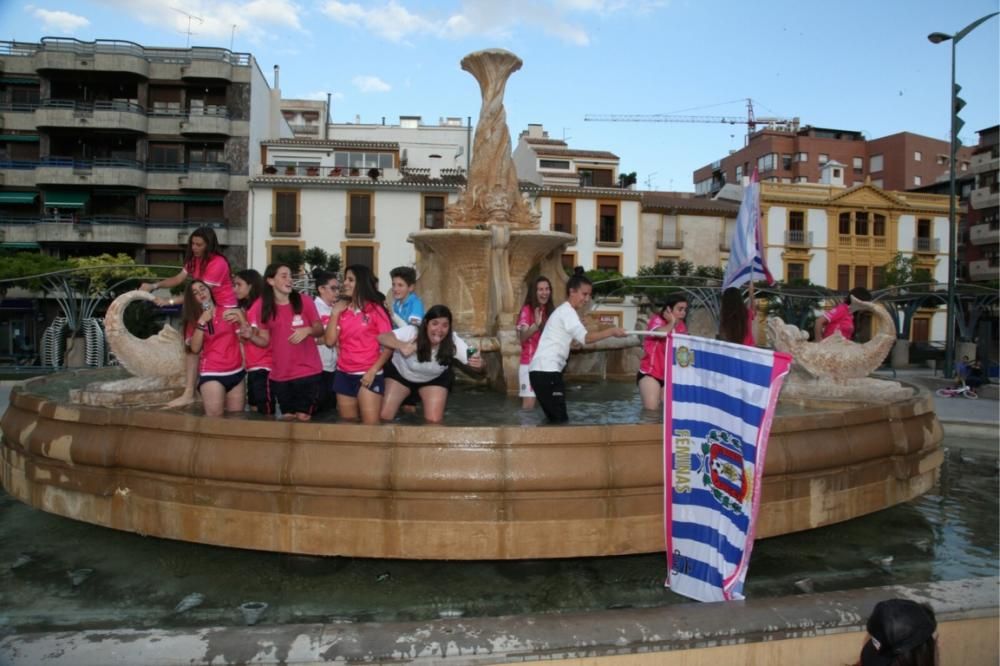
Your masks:
M 121 40 L 81 42 L 46 37 L 35 51 L 34 64 L 37 71 L 127 72 L 149 78 L 149 61 L 144 49 Z

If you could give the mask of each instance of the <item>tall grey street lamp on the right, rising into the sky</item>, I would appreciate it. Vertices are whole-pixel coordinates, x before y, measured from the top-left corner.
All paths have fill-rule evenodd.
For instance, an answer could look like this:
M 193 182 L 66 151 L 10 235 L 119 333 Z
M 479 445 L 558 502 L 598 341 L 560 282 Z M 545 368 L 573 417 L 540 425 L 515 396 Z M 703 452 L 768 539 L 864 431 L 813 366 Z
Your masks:
M 976 19 L 954 35 L 943 32 L 932 32 L 927 39 L 932 44 L 940 44 L 951 40 L 951 145 L 948 155 L 948 315 L 946 319 L 946 337 L 944 347 L 944 376 L 948 379 L 955 372 L 955 311 L 958 303 L 955 299 L 955 281 L 958 265 L 958 220 L 955 216 L 955 155 L 958 152 L 958 131 L 965 122 L 958 117 L 958 112 L 965 106 L 965 100 L 958 96 L 961 86 L 955 84 L 955 46 L 970 32 L 988 21 L 1000 12 L 993 12 Z

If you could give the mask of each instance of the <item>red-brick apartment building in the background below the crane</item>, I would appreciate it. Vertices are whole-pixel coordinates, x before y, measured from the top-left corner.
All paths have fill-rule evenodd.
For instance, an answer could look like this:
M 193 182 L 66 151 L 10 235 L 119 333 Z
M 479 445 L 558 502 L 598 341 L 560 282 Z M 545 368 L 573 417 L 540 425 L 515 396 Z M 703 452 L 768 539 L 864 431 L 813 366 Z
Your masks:
M 845 167 L 844 184 L 871 179 L 885 190 L 910 190 L 948 176 L 949 144 L 912 132 L 867 140 L 862 132 L 805 126 L 769 127 L 745 147 L 694 172 L 695 192 L 714 196 L 727 183 L 739 185 L 757 168 L 761 182 L 818 183 L 827 162 Z M 969 169 L 972 151 L 958 152 L 958 171 Z

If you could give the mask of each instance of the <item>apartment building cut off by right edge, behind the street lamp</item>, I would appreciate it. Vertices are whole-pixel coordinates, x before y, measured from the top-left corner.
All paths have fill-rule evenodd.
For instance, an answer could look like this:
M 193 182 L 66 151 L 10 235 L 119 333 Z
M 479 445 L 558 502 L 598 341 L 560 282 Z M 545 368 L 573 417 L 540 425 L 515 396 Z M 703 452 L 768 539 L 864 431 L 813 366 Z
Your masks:
M 975 183 L 962 221 L 960 277 L 972 282 L 1000 279 L 1000 125 L 979 131 L 970 172 Z

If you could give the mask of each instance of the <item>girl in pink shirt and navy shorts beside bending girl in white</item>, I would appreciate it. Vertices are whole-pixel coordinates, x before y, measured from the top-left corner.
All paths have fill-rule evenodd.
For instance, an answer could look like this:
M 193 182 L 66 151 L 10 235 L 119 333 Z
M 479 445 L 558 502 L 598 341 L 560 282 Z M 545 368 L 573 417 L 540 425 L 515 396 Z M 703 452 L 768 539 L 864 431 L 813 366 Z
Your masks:
M 362 423 L 377 424 L 385 393 L 382 366 L 392 356 L 392 349 L 383 349 L 378 341 L 392 330 L 385 297 L 368 267 L 355 264 L 344 271 L 340 298 L 325 335 L 328 347 L 339 345 L 333 378 L 337 413 L 345 421 L 356 421 L 360 413 Z

